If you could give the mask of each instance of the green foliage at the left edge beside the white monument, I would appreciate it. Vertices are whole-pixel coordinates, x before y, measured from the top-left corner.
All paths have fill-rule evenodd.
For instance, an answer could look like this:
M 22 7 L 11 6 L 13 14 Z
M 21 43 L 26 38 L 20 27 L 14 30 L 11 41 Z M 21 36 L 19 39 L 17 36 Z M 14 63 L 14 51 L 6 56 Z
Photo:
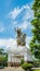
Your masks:
M 6 64 L 8 61 L 8 55 L 4 52 L 3 48 L 0 48 L 0 66 Z

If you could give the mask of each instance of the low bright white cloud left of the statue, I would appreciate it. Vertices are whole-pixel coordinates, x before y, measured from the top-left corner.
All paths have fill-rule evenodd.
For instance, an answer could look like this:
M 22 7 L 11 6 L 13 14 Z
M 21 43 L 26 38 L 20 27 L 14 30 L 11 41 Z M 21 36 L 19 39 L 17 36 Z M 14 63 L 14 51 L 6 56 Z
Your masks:
M 5 48 L 12 47 L 15 44 L 15 39 L 14 38 L 10 38 L 10 39 L 0 39 L 0 47 L 5 46 Z

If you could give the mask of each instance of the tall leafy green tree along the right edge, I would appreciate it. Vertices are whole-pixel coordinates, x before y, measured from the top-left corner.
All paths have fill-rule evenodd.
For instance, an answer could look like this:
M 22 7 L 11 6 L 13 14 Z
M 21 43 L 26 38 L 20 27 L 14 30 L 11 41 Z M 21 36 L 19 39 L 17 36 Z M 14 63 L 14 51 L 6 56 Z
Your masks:
M 30 42 L 30 50 L 40 60 L 40 0 L 35 0 L 32 10 L 35 17 L 31 21 L 32 39 Z

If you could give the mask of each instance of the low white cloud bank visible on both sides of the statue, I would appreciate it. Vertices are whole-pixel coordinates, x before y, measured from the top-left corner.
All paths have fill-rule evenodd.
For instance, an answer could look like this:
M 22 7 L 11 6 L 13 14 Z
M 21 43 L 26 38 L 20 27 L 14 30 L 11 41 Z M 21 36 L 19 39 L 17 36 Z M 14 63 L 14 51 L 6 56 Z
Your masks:
M 29 47 L 29 42 L 31 37 L 26 37 L 26 46 Z M 5 47 L 8 49 L 9 47 L 16 47 L 16 39 L 10 38 L 10 39 L 0 39 L 0 47 Z

